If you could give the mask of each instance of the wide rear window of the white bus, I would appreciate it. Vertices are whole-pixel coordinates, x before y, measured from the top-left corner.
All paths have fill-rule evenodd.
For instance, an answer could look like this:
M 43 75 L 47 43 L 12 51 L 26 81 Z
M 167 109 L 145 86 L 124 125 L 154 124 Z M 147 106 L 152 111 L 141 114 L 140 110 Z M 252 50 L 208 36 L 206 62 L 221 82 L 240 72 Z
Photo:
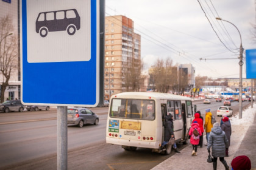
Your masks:
M 110 107 L 110 117 L 154 120 L 155 101 L 114 98 Z

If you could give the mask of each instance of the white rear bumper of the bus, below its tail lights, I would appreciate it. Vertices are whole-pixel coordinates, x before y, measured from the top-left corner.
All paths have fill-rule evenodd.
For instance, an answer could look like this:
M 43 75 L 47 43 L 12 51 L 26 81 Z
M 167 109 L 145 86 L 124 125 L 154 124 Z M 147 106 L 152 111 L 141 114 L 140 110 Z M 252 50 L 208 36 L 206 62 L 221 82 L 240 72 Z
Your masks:
M 158 141 L 126 140 L 112 137 L 106 137 L 106 143 L 151 149 L 159 149 L 161 146 Z

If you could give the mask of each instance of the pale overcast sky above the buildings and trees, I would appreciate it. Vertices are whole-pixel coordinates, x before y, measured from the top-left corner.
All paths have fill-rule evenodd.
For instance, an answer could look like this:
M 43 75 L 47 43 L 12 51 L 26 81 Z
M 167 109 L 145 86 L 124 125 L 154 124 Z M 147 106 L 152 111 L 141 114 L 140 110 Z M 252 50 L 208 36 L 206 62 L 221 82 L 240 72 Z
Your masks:
M 207 17 L 205 16 L 204 9 Z M 251 31 L 255 24 L 255 0 L 105 0 L 106 16 L 124 15 L 133 20 L 134 32 L 141 35 L 141 58 L 145 69 L 157 58 L 171 58 L 174 64 L 191 63 L 196 75 L 212 78 L 239 78 L 240 30 L 243 48 L 256 49 Z M 215 31 L 218 36 L 216 35 Z M 227 47 L 225 47 L 225 46 Z M 245 62 L 245 54 L 244 62 Z M 202 60 L 199 58 L 216 59 Z M 246 78 L 246 64 L 243 78 Z

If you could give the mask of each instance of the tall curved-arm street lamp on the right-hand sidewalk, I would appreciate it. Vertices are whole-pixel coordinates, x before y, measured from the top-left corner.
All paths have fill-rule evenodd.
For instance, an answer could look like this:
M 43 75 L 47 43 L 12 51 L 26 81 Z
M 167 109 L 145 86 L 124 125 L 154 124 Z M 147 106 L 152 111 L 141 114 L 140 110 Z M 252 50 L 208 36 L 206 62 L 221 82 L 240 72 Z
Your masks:
M 221 18 L 216 18 L 218 20 L 221 20 L 221 21 L 226 21 L 224 19 L 221 19 Z M 226 21 L 226 22 L 229 22 L 229 21 Z M 236 30 L 238 30 L 238 28 L 232 23 L 232 22 L 229 22 L 230 24 L 232 24 Z M 242 38 L 241 38 L 241 33 L 240 31 L 238 30 L 238 33 L 240 35 L 240 61 L 239 61 L 239 66 L 240 66 L 240 76 L 239 76 L 239 118 L 242 118 L 242 110 L 243 110 L 243 103 L 242 103 L 242 90 L 243 90 L 243 80 L 242 80 L 242 70 L 243 70 L 243 46 L 242 46 Z

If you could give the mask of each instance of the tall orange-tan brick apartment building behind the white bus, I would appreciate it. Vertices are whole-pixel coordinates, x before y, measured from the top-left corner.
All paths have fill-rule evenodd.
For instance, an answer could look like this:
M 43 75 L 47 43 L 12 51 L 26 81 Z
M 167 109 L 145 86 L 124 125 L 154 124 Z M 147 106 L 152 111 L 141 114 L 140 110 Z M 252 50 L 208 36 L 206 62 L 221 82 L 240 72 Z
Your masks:
M 133 31 L 133 21 L 126 16 L 105 17 L 105 100 L 127 88 L 127 68 L 141 61 L 141 36 Z

